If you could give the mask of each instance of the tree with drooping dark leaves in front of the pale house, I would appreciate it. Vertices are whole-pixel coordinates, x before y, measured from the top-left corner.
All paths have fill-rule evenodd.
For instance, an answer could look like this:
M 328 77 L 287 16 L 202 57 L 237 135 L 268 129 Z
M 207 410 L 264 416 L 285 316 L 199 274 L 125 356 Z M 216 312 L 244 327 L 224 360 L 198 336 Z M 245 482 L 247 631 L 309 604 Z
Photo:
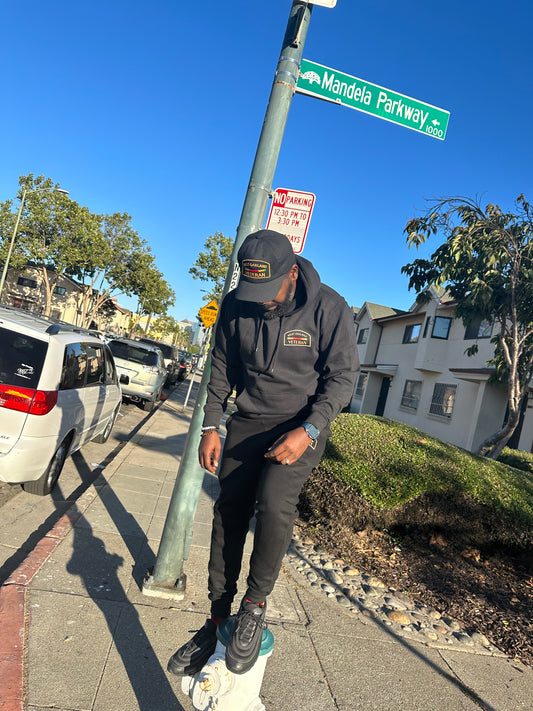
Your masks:
M 491 381 L 507 386 L 508 416 L 478 450 L 497 459 L 519 422 L 533 375 L 533 213 L 523 195 L 516 214 L 492 204 L 483 209 L 464 197 L 433 200 L 423 217 L 407 223 L 407 242 L 418 247 L 439 230 L 446 241 L 430 259 L 416 259 L 402 272 L 419 303 L 427 301 L 426 287 L 446 286 L 465 325 L 497 325 L 489 365 L 495 369 Z M 466 350 L 476 352 L 477 346 Z

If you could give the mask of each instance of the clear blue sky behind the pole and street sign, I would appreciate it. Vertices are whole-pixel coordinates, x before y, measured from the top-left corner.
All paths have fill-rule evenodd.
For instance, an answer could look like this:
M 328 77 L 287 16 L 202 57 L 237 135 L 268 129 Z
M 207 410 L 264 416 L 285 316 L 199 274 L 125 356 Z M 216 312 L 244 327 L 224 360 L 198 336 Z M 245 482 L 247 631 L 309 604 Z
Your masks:
M 94 212 L 129 213 L 172 315 L 194 319 L 206 285 L 188 270 L 208 235 L 235 236 L 291 5 L 5 3 L 0 200 L 44 174 Z M 532 20 L 531 0 L 315 6 L 306 59 L 451 113 L 438 141 L 294 97 L 273 187 L 316 194 L 302 256 L 350 305 L 413 303 L 403 229 L 427 199 L 533 201 Z

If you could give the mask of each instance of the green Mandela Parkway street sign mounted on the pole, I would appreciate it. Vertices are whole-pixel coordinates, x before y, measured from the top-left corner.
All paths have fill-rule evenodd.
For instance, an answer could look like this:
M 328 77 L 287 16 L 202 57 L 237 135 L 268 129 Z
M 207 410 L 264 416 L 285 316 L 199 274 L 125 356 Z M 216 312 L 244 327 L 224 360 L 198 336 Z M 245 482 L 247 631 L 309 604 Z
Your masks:
M 399 123 L 441 141 L 446 136 L 449 111 L 308 59 L 302 59 L 296 91 Z

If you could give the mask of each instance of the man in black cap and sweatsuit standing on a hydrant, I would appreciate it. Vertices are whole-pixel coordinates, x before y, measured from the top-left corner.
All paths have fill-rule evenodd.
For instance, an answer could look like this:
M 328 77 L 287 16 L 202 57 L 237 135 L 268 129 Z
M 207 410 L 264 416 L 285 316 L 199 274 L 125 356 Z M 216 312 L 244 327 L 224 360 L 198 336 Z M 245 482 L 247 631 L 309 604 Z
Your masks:
M 241 276 L 220 311 L 199 458 L 214 473 L 218 427 L 226 423 L 209 559 L 211 618 L 171 657 L 169 671 L 194 675 L 230 615 L 243 547 L 256 515 L 247 590 L 226 647 L 226 666 L 244 674 L 257 660 L 267 597 L 289 545 L 305 480 L 324 450 L 329 425 L 351 399 L 357 347 L 353 314 L 311 262 L 271 230 L 249 235 L 238 253 Z

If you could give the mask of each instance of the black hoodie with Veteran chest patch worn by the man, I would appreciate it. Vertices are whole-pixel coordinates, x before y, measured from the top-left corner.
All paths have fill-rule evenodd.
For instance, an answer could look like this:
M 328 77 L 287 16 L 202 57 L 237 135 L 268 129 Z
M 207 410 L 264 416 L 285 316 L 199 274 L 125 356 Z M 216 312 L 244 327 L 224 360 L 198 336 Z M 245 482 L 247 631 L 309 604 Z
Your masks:
M 359 368 L 353 314 L 296 257 L 293 309 L 265 319 L 261 306 L 230 292 L 215 333 L 204 426 L 220 423 L 235 388 L 239 414 L 288 420 L 295 415 L 324 430 L 352 397 Z

